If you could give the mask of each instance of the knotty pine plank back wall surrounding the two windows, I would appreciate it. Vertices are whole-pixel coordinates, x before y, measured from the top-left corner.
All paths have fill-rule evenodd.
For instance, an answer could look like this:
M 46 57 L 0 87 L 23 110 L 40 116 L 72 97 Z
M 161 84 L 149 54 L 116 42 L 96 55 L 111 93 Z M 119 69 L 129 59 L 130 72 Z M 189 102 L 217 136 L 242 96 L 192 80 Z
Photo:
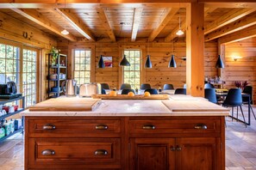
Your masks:
M 120 54 L 121 46 L 138 46 L 138 48 L 145 48 L 146 54 L 151 56 L 151 61 L 153 64 L 152 69 L 145 70 L 145 82 L 150 83 L 153 88 L 163 88 L 165 83 L 172 83 L 174 88 L 183 88 L 186 81 L 186 61 L 183 59 L 186 55 L 186 43 L 184 39 L 174 39 L 171 43 L 150 42 L 147 43 L 146 39 L 141 39 L 139 42 L 128 42 L 123 39 L 117 41 L 116 43 L 106 42 L 104 40 L 97 43 L 68 43 L 66 41 L 59 41 L 58 48 L 63 53 L 72 54 L 72 48 L 78 48 L 81 46 L 95 46 L 95 76 L 96 82 L 106 82 L 109 83 L 110 88 L 118 88 L 119 84 L 119 61 L 122 58 Z M 67 52 L 68 50 L 68 52 Z M 177 63 L 177 68 L 168 68 L 171 55 L 175 55 L 175 60 Z M 113 67 L 106 69 L 97 68 L 97 62 L 99 56 L 110 56 L 113 58 Z M 205 76 L 216 76 L 217 70 L 215 69 L 215 62 L 217 59 L 217 42 L 211 41 L 205 44 L 204 49 L 205 55 Z M 146 56 L 142 56 L 146 58 Z M 69 67 L 71 66 L 72 58 L 69 57 Z M 146 61 L 144 59 L 144 61 Z M 68 69 L 68 78 L 72 78 L 71 69 Z

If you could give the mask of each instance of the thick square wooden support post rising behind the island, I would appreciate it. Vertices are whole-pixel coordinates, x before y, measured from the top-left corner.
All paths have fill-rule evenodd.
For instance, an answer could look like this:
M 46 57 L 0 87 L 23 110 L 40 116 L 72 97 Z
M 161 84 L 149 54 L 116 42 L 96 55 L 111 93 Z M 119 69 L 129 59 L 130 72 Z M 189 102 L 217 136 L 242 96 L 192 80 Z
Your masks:
M 187 94 L 204 96 L 203 3 L 189 3 L 186 8 L 186 85 Z

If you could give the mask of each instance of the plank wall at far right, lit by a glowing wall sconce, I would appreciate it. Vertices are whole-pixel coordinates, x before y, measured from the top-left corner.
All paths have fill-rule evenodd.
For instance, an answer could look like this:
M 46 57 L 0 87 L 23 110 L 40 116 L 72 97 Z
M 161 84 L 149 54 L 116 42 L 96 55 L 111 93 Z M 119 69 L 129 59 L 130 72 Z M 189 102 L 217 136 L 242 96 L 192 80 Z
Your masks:
M 240 59 L 234 61 L 234 57 Z M 249 82 L 256 101 L 256 38 L 245 39 L 225 46 L 226 88 L 235 88 L 234 82 Z

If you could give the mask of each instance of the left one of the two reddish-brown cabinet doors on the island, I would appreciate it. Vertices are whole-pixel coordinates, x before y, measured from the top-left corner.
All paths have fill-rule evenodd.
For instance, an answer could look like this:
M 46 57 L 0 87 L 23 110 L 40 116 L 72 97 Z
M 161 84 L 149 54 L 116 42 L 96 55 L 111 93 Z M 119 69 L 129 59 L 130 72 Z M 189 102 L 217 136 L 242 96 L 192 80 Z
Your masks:
M 175 140 L 172 138 L 132 138 L 130 168 L 134 170 L 175 169 Z

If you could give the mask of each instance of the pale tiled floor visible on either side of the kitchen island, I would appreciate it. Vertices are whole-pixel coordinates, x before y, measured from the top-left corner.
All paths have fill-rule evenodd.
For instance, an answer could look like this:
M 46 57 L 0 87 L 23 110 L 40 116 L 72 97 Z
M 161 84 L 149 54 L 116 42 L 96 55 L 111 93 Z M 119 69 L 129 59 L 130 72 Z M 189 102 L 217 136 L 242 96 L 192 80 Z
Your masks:
M 247 106 L 243 106 L 247 112 Z M 256 113 L 256 106 L 253 106 Z M 226 170 L 256 170 L 256 121 L 246 126 L 226 118 Z M 24 143 L 17 134 L 0 143 L 0 170 L 23 170 Z

